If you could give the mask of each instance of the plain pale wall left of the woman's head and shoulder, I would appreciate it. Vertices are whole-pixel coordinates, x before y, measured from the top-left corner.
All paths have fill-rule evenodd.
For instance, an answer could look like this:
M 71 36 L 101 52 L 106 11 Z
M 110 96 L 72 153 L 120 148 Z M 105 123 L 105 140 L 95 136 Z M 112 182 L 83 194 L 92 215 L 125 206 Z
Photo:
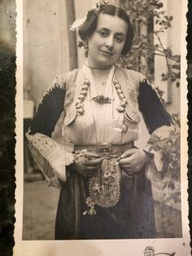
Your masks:
M 24 1 L 24 98 L 39 102 L 56 74 L 69 70 L 64 1 Z

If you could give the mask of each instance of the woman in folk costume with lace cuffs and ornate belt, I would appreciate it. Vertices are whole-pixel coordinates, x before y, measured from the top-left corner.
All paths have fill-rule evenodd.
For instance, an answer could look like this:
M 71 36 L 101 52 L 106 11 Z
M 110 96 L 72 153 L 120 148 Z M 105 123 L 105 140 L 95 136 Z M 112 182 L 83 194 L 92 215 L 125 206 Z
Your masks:
M 133 28 L 119 7 L 99 4 L 72 24 L 85 47 L 81 69 L 56 77 L 28 132 L 51 185 L 60 186 L 55 239 L 154 238 L 151 181 L 164 170 L 151 146 L 171 129 L 141 73 L 116 67 Z M 141 111 L 151 139 L 134 147 Z M 163 157 L 163 155 L 161 155 Z

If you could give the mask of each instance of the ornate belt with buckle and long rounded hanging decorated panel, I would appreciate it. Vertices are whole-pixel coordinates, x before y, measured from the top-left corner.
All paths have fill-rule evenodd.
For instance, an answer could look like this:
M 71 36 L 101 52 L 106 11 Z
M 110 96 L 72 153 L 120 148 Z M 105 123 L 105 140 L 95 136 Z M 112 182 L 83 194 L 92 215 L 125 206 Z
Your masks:
M 111 145 L 107 143 L 96 145 L 76 145 L 75 150 L 89 149 L 97 152 L 104 159 L 97 173 L 89 178 L 89 196 L 95 205 L 112 207 L 120 199 L 121 170 L 117 160 L 125 150 L 133 148 L 133 143 Z

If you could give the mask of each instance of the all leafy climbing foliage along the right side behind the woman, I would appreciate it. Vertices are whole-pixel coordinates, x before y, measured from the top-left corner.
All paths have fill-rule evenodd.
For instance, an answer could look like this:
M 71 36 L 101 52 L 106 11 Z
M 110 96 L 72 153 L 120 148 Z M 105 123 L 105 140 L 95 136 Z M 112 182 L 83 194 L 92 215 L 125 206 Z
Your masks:
M 181 57 L 172 52 L 171 46 L 164 46 L 162 35 L 172 27 L 173 17 L 166 14 L 160 0 L 122 0 L 121 5 L 134 21 L 133 46 L 129 55 L 126 56 L 129 67 L 144 73 L 149 81 L 154 82 L 155 55 L 160 55 L 167 65 L 167 72 L 162 73 L 162 81 L 168 82 L 168 85 L 172 86 L 173 82 L 180 79 Z M 158 87 L 155 90 L 166 108 L 163 99 L 164 91 Z M 151 143 L 155 151 L 162 150 L 166 156 L 167 162 L 164 165 L 168 166 L 168 170 L 165 175 L 169 178 L 165 182 L 163 180 L 163 190 L 166 192 L 169 190 L 169 200 L 177 203 L 181 201 L 181 192 L 175 186 L 181 179 L 179 113 L 172 114 L 172 122 L 176 129 L 170 132 L 168 139 L 156 137 Z

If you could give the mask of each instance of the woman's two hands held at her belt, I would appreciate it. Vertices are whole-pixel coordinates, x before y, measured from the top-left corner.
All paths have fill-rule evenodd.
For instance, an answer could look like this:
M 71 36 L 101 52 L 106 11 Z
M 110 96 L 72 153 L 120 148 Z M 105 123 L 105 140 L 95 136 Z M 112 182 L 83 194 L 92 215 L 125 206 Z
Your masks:
M 151 155 L 142 149 L 131 148 L 126 150 L 119 158 L 118 162 L 120 169 L 124 170 L 126 174 L 137 174 L 142 167 L 146 165 L 146 162 L 150 161 Z M 74 167 L 77 172 L 85 177 L 91 177 L 101 166 L 103 157 L 97 153 L 87 151 L 85 155 L 76 158 Z

